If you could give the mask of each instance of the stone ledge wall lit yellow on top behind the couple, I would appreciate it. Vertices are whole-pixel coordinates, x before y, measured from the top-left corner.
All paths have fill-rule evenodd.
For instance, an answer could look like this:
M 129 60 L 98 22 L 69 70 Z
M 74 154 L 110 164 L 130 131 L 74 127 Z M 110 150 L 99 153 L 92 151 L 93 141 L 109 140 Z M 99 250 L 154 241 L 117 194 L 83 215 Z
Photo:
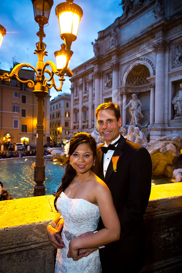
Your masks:
M 46 235 L 56 215 L 53 201 L 47 195 L 0 202 L 0 273 L 54 273 L 55 251 Z M 142 272 L 181 272 L 181 219 L 182 183 L 152 186 Z

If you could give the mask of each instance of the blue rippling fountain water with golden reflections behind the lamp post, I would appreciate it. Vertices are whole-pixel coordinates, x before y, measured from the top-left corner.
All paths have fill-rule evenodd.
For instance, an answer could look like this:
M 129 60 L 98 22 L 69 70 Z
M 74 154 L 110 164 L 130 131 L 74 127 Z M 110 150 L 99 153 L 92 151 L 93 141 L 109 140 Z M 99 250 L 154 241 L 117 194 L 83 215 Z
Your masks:
M 53 194 L 61 184 L 64 169 L 61 163 L 46 161 L 45 164 L 45 191 L 46 195 Z M 32 197 L 35 182 L 35 158 L 17 158 L 0 160 L 0 181 L 12 198 Z

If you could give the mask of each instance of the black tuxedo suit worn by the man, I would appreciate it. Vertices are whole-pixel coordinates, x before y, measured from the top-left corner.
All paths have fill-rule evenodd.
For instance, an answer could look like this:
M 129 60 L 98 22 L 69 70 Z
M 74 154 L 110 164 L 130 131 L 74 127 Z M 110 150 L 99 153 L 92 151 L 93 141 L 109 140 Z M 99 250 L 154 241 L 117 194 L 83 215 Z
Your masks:
M 151 190 L 152 161 L 146 148 L 126 140 L 122 135 L 114 151 L 120 156 L 114 172 L 110 160 L 104 178 L 103 152 L 97 147 L 97 165 L 93 170 L 109 187 L 118 213 L 121 234 L 120 240 L 99 250 L 103 273 L 125 272 L 129 269 L 140 272 L 144 262 L 145 234 L 143 214 L 147 208 Z M 98 230 L 102 229 L 102 219 Z M 118 266 L 121 271 L 118 271 Z M 125 271 L 123 271 L 123 270 Z M 126 272 L 127 272 L 126 271 Z M 128 271 L 129 272 L 129 271 Z

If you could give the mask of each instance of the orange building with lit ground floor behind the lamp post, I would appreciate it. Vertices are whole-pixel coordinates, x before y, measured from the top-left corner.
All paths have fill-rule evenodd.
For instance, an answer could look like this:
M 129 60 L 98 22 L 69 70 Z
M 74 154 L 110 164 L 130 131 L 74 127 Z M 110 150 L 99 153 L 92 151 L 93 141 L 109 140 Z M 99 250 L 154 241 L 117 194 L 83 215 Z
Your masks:
M 16 65 L 15 63 L 14 65 Z M 3 74 L 5 70 L 0 70 Z M 21 69 L 21 79 L 34 80 L 34 71 Z M 50 96 L 44 98 L 44 143 L 49 136 Z M 0 143 L 25 143 L 36 146 L 37 98 L 26 83 L 15 77 L 10 82 L 0 81 Z

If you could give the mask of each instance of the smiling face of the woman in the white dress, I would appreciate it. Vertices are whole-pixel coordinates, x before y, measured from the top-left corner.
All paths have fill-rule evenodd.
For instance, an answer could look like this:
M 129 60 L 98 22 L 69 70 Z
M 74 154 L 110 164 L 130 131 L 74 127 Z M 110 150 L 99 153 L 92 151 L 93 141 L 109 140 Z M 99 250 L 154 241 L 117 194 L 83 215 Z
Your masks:
M 70 156 L 72 167 L 78 173 L 86 173 L 93 166 L 93 152 L 88 144 L 80 144 Z

